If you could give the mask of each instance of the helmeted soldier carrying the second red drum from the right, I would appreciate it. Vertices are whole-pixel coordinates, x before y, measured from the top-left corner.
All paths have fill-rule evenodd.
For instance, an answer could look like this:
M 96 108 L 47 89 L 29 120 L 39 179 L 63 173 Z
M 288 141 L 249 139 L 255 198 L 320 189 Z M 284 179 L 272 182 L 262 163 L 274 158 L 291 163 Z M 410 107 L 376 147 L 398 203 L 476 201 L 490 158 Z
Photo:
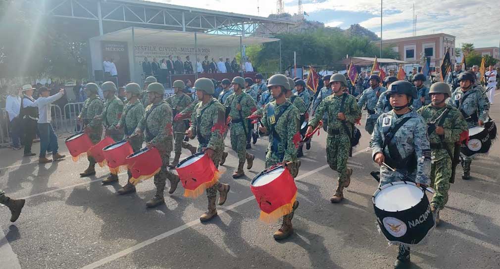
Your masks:
M 220 102 L 212 98 L 213 83 L 207 78 L 199 78 L 194 82 L 194 90 L 198 102 L 191 115 L 191 127 L 187 130 L 189 137 L 198 138 L 198 152 L 204 151 L 210 157 L 215 167 L 218 167 L 222 151 L 224 150 L 223 133 L 225 129 L 225 109 Z M 201 222 L 206 222 L 217 215 L 215 199 L 219 192 L 218 204 L 223 205 L 229 193 L 229 185 L 217 181 L 215 185 L 206 189 L 208 199 L 207 211 L 199 217 Z

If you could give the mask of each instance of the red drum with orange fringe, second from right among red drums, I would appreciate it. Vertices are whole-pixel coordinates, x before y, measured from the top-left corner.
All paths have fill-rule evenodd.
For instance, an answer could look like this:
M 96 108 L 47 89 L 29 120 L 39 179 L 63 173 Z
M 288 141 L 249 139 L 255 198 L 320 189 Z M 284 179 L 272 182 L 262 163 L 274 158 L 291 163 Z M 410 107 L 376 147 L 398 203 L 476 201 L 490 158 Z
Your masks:
M 184 197 L 197 197 L 217 183 L 220 173 L 212 160 L 203 152 L 191 155 L 175 166 L 184 187 Z

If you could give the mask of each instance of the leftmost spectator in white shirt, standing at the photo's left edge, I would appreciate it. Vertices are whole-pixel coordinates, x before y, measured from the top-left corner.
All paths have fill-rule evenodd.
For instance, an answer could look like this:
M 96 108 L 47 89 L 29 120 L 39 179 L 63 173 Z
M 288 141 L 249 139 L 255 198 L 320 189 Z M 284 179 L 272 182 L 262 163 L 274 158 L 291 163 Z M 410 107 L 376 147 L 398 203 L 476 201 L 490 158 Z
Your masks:
M 5 100 L 5 111 L 8 114 L 8 120 L 10 123 L 10 137 L 12 138 L 12 148 L 15 150 L 21 149 L 19 144 L 19 134 L 20 134 L 20 119 L 17 117 L 19 115 L 19 108 L 21 107 L 21 98 L 19 97 L 19 88 L 12 85 L 9 95 Z

